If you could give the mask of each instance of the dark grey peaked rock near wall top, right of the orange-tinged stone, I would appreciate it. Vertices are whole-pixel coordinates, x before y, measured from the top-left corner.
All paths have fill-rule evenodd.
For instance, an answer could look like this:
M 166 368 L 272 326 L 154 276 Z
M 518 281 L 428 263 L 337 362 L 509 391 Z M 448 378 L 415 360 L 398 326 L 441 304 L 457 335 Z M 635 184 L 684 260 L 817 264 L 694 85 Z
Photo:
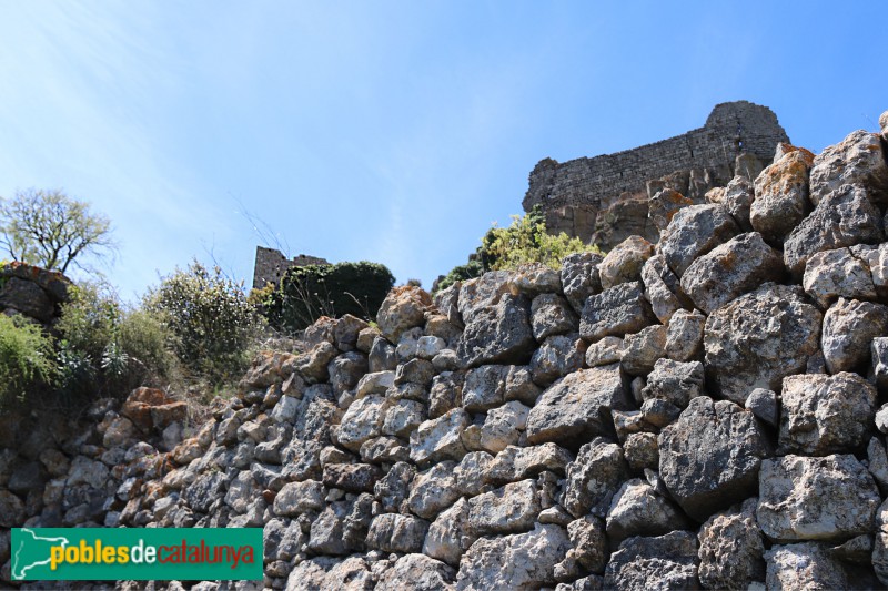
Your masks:
M 457 354 L 467 367 L 483 364 L 524 364 L 536 342 L 531 330 L 526 296 L 502 296 L 495 306 L 474 313 L 466 324 Z

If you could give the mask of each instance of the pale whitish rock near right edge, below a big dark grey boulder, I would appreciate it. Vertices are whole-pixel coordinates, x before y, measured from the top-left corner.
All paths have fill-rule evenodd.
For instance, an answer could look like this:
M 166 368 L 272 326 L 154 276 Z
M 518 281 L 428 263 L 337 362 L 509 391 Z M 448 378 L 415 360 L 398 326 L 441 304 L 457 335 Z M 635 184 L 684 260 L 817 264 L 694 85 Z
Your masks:
M 839 297 L 875 299 L 876 286 L 869 267 L 867 246 L 821 251 L 810 257 L 801 285 L 826 309 Z M 875 249 L 874 249 L 875 251 Z

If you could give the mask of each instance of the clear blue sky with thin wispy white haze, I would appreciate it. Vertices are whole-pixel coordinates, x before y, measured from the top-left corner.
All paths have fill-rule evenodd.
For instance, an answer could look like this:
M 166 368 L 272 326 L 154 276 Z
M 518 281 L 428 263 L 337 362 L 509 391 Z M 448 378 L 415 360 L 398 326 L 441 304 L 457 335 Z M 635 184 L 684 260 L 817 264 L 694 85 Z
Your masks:
M 668 4 L 668 6 L 667 6 Z M 680 6 L 680 8 L 676 8 Z M 261 242 L 431 286 L 527 174 L 767 104 L 820 151 L 888 109 L 884 2 L 0 0 L 0 195 L 113 222 L 134 299 Z M 875 27 L 875 29 L 874 29 Z

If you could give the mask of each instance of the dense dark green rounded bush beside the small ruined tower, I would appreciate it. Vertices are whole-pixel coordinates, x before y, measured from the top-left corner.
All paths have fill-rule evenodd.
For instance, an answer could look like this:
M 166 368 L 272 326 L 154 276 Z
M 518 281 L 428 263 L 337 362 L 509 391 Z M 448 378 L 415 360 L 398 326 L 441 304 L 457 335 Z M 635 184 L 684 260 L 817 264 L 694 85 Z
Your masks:
M 273 291 L 265 291 L 262 308 L 279 330 L 301 330 L 321 316 L 352 314 L 373 319 L 395 283 L 377 263 L 339 263 L 292 267 Z

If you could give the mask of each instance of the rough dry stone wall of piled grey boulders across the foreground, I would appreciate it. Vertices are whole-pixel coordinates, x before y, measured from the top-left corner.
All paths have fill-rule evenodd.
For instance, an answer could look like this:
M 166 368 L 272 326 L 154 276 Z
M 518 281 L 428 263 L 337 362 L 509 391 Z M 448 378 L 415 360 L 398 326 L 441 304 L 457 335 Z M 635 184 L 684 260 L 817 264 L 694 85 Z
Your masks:
M 884 588 L 888 152 L 797 153 L 657 244 L 322 318 L 194 431 L 140 389 L 22 432 L 0 527 L 264 528 L 201 590 Z

